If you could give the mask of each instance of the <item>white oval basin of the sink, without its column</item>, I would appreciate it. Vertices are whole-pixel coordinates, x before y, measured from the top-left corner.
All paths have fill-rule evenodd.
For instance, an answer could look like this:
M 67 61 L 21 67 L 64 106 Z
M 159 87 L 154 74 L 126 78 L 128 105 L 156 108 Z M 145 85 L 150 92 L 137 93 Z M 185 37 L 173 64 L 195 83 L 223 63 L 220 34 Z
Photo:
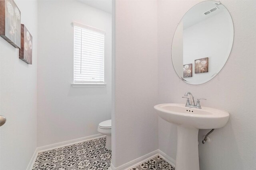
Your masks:
M 229 118 L 227 111 L 210 107 L 196 109 L 184 104 L 158 104 L 154 108 L 162 119 L 196 129 L 218 129 L 224 127 Z

